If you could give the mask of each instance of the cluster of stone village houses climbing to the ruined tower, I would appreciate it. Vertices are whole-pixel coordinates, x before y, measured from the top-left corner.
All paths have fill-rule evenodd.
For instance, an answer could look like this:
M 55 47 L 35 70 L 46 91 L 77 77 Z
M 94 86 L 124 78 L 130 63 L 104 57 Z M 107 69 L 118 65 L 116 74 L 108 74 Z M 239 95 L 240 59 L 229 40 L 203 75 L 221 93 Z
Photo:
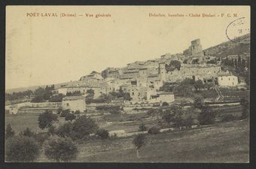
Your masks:
M 166 65 L 172 61 L 181 63 L 180 68 L 166 70 Z M 130 103 L 146 101 L 148 103 L 172 102 L 175 100 L 172 92 L 160 91 L 164 83 L 179 83 L 185 78 L 202 80 L 203 83 L 216 83 L 219 86 L 237 86 L 238 78 L 228 71 L 221 71 L 221 61 L 214 56 L 203 53 L 200 39 L 191 41 L 190 47 L 183 53 L 160 56 L 159 59 L 145 62 L 133 62 L 123 68 L 106 68 L 101 73 L 92 73 L 72 81 L 56 89 L 56 92 L 67 95 L 68 92 L 81 92 L 81 96 L 66 96 L 62 99 L 62 107 L 70 110 L 86 110 L 85 96 L 88 90 L 93 90 L 93 98 L 108 95 L 109 92 L 130 93 Z

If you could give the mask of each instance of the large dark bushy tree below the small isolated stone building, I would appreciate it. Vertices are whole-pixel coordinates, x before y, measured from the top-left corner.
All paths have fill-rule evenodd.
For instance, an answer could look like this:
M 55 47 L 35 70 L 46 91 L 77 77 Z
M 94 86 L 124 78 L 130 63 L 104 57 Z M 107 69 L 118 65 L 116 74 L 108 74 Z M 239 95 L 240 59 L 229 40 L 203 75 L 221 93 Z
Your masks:
M 99 126 L 88 116 L 79 116 L 73 123 L 73 132 L 75 137 L 81 139 L 91 133 L 95 133 Z

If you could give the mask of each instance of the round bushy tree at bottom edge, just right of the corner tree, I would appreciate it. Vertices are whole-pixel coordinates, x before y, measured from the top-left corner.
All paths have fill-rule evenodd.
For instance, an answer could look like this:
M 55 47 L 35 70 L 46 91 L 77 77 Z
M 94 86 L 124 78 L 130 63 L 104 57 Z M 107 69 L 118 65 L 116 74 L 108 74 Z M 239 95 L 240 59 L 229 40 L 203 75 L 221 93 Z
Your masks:
M 69 137 L 52 138 L 47 141 L 44 154 L 57 162 L 72 161 L 78 156 L 78 146 Z

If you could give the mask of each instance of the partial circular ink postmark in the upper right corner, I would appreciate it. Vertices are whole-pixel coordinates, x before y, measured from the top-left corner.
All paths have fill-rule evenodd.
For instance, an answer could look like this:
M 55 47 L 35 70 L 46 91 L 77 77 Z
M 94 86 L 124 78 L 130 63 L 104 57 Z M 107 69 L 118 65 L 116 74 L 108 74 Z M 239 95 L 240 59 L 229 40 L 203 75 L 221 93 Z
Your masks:
M 245 17 L 241 17 L 237 20 L 234 20 L 230 24 L 228 24 L 226 29 L 227 38 L 239 44 L 250 44 L 249 39 L 241 38 L 243 35 L 247 35 L 250 33 L 250 24 L 248 20 L 245 20 Z

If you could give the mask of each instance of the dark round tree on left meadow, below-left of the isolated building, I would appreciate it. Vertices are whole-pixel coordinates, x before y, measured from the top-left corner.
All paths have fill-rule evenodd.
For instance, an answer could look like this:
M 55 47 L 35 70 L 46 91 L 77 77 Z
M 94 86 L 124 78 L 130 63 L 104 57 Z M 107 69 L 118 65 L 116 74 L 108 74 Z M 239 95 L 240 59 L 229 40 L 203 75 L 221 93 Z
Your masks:
M 44 113 L 41 113 L 38 116 L 38 126 L 41 129 L 50 127 L 53 122 L 57 121 L 57 115 L 53 114 L 50 110 L 45 110 Z

